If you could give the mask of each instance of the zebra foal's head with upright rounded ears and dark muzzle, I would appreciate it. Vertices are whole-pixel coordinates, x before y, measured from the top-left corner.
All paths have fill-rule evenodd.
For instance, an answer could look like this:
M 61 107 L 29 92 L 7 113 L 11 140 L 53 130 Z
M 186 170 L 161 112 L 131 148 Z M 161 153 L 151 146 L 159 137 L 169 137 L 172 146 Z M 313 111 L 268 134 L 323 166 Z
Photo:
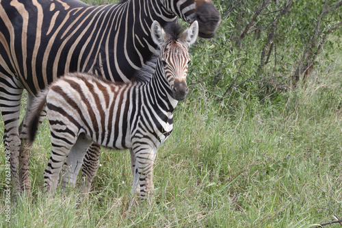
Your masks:
M 192 45 L 198 36 L 198 23 L 194 21 L 183 33 L 178 23 L 172 25 L 170 31 L 164 31 L 157 21 L 151 27 L 153 41 L 160 48 L 157 68 L 161 68 L 161 75 L 172 91 L 171 96 L 177 101 L 185 99 L 187 88 L 187 68 L 190 62 L 190 55 L 187 49 Z

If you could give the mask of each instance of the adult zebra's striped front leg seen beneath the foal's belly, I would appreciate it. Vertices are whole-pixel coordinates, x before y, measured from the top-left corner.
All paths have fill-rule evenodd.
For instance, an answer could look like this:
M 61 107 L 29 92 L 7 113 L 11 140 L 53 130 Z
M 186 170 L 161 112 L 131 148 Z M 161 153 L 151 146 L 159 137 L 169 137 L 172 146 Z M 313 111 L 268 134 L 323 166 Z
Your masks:
M 98 158 L 100 157 L 101 146 L 96 142 L 88 148 L 88 151 L 83 159 L 82 165 L 82 192 L 88 197 L 92 180 L 94 179 L 98 170 Z

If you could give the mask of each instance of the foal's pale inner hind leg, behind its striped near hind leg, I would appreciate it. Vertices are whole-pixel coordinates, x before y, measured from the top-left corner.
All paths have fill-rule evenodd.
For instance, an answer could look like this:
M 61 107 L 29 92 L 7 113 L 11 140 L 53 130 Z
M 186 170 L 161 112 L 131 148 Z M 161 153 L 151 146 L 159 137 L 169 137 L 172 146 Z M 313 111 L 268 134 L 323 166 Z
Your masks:
M 66 157 L 66 161 L 62 170 L 62 188 L 65 190 L 67 186 L 74 188 L 76 184 L 79 169 L 83 164 L 83 159 L 92 144 L 92 140 L 85 134 L 79 135 L 77 141 L 70 153 Z

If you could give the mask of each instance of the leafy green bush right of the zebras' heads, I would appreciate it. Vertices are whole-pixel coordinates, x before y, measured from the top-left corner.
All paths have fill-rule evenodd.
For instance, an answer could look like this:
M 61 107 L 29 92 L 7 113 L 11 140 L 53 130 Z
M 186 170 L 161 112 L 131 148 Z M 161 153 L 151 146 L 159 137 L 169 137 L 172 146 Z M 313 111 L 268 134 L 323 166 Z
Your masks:
M 342 36 L 341 1 L 215 3 L 223 12 L 222 23 L 215 38 L 199 40 L 192 48 L 190 81 L 220 101 L 231 102 L 241 92 L 263 99 L 294 88 L 300 79 L 311 79 L 322 51 L 324 67 L 334 61 L 328 38 Z

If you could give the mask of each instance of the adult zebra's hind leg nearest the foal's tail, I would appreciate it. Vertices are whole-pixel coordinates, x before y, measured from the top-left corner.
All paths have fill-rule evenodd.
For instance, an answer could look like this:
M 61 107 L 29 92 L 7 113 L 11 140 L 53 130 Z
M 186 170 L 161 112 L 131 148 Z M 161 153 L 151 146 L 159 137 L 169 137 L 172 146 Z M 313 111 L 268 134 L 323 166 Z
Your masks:
M 19 136 L 21 138 L 21 149 L 19 154 L 19 181 L 21 183 L 21 190 L 25 190 L 26 194 L 29 195 L 31 183 L 29 180 L 29 155 L 31 151 L 31 147 L 27 144 L 27 116 L 29 116 L 29 110 L 31 109 L 31 105 L 34 101 L 34 96 L 27 93 L 27 105 L 26 112 L 19 127 Z M 45 107 L 40 113 L 40 118 L 38 122 L 38 127 L 44 121 L 45 116 L 47 116 L 47 112 L 45 111 Z

